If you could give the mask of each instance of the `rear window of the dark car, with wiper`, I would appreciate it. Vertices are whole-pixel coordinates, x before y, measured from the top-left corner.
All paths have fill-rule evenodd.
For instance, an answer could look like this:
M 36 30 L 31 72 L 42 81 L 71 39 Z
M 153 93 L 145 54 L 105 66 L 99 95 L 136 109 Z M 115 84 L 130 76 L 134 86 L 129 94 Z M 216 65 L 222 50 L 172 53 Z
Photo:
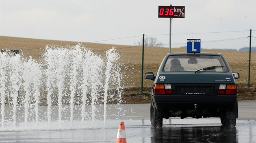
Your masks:
M 228 69 L 218 55 L 171 55 L 163 71 L 227 72 Z

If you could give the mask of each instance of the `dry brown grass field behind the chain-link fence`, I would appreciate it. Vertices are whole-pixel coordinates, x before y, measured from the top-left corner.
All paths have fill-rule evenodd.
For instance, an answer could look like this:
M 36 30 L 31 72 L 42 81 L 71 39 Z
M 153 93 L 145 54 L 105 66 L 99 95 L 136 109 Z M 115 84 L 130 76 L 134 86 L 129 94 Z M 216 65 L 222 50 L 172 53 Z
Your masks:
M 105 51 L 115 47 L 120 54 L 120 63 L 122 66 L 121 74 L 124 78 L 124 94 L 137 95 L 141 93 L 141 46 L 124 46 L 115 44 L 97 44 L 80 42 L 82 45 L 91 49 L 93 52 L 104 55 Z M 40 61 L 41 55 L 45 52 L 45 47 L 72 47 L 77 42 L 55 41 L 55 40 L 39 40 L 29 38 L 15 38 L 0 36 L 1 50 L 20 50 L 20 54 L 25 57 L 31 56 L 33 59 Z M 144 51 L 144 73 L 154 72 L 158 70 L 163 57 L 168 53 L 168 48 L 145 47 Z M 172 48 L 172 52 L 186 52 L 184 48 Z M 225 51 L 225 50 L 204 50 L 202 52 L 222 53 L 228 61 L 233 72 L 239 72 L 240 78 L 236 80 L 239 99 L 256 99 L 256 52 L 252 52 L 251 70 L 250 70 L 250 87 L 248 88 L 248 52 Z M 144 74 L 143 73 L 143 74 Z M 151 80 L 143 79 L 143 93 L 149 93 L 152 86 Z M 145 99 L 148 100 L 148 99 Z

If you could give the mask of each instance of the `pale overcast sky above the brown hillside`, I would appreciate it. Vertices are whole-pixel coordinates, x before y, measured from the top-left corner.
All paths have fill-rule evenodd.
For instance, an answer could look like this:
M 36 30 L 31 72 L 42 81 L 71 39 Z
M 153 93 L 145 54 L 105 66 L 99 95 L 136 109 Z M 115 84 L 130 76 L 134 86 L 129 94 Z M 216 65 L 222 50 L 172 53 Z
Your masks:
M 169 43 L 170 19 L 158 18 L 158 6 L 170 4 L 185 6 L 171 43 L 255 36 L 256 0 L 0 0 L 0 35 L 134 45 L 145 34 Z

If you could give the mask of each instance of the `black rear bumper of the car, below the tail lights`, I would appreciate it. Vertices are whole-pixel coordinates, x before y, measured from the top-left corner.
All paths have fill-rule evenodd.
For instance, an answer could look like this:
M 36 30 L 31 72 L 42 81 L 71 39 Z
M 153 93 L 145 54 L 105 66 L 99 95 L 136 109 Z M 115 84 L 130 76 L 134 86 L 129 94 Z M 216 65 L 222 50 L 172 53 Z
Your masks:
M 220 109 L 233 111 L 237 102 L 236 95 L 153 95 L 156 109 Z

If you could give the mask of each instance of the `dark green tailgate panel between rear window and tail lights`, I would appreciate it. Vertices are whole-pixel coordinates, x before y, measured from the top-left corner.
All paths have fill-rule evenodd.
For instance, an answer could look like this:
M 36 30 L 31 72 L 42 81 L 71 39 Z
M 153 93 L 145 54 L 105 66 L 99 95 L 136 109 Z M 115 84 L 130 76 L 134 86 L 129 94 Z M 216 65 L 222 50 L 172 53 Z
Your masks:
M 156 75 L 155 83 L 165 84 L 235 84 L 232 73 L 171 72 Z

